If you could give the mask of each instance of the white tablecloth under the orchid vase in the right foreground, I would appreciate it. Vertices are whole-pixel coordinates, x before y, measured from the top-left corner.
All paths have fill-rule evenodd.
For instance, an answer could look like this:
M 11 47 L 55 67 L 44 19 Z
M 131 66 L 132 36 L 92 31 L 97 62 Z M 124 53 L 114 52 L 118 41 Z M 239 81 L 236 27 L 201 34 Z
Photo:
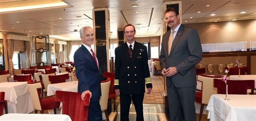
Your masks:
M 256 121 L 256 95 L 225 94 L 211 96 L 206 110 L 210 121 Z

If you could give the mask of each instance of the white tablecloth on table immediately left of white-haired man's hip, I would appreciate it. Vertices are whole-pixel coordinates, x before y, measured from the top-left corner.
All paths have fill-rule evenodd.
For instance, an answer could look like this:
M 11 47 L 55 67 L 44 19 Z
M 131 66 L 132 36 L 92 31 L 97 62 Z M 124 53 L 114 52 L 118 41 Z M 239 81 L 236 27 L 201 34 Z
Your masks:
M 75 81 L 53 83 L 48 85 L 47 95 L 54 95 L 56 90 L 77 92 L 77 89 L 78 82 Z

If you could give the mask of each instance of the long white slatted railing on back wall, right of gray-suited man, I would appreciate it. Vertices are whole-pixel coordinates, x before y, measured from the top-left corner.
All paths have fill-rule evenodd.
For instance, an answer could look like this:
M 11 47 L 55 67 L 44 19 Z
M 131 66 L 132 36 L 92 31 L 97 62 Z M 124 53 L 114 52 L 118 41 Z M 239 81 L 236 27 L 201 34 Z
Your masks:
M 203 52 L 247 51 L 247 41 L 202 44 Z M 251 43 L 250 43 L 251 44 Z M 254 43 L 255 47 L 255 43 Z

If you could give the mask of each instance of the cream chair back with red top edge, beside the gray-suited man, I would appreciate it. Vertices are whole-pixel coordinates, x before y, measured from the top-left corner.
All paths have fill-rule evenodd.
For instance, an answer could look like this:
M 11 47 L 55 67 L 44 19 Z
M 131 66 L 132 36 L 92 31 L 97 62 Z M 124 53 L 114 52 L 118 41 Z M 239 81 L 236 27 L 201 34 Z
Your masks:
M 202 82 L 202 104 L 208 104 L 210 97 L 213 94 L 217 94 L 217 88 L 213 87 L 213 79 L 222 79 L 222 77 L 197 75 L 197 81 Z

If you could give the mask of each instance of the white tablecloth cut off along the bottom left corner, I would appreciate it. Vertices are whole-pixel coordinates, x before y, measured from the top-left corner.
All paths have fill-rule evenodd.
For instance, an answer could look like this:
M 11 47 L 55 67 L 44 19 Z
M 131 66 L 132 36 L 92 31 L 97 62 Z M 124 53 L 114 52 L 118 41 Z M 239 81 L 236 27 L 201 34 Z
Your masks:
M 5 114 L 0 121 L 71 121 L 68 115 L 58 114 Z

